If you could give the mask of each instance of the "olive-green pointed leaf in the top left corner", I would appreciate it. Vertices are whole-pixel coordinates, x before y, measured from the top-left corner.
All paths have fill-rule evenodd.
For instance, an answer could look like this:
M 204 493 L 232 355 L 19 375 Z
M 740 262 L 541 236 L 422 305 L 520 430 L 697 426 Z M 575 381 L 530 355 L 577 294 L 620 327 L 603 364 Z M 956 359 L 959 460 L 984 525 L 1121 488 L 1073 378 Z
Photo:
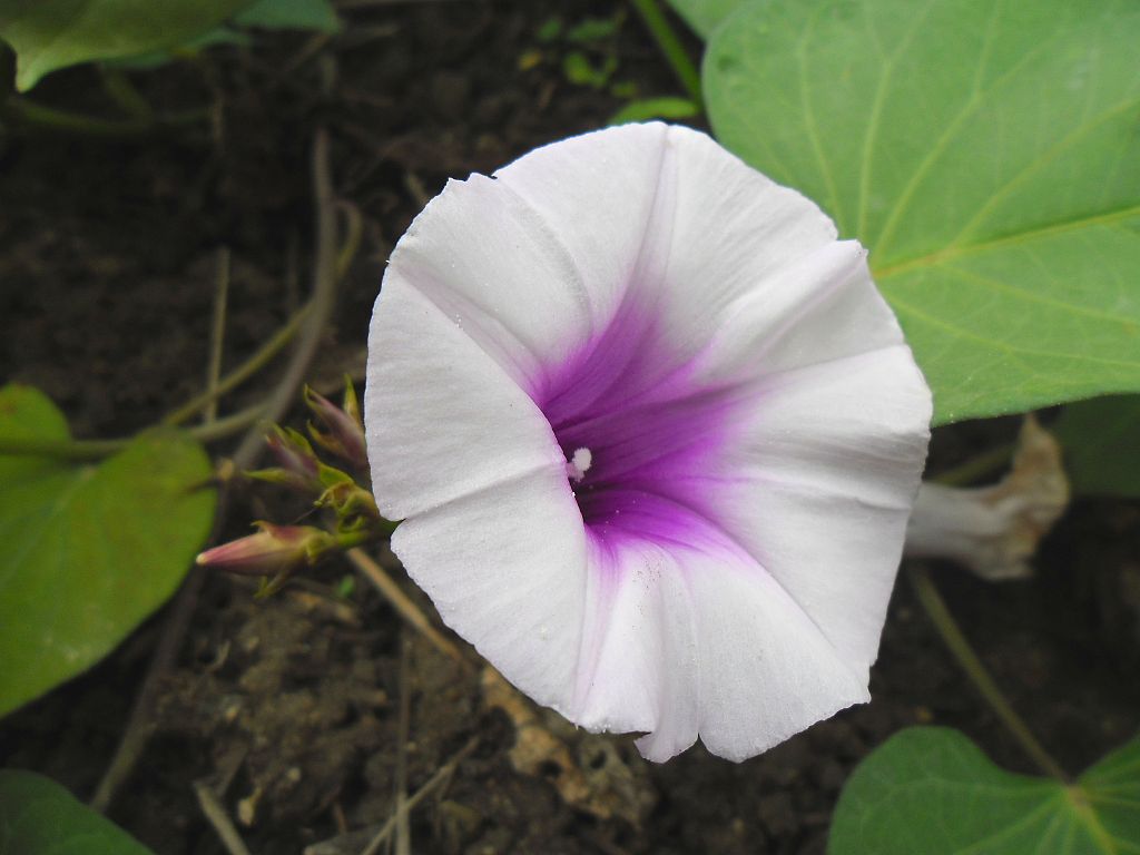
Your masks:
M 173 48 L 252 0 L 0 0 L 0 39 L 16 51 L 16 88 L 90 59 Z

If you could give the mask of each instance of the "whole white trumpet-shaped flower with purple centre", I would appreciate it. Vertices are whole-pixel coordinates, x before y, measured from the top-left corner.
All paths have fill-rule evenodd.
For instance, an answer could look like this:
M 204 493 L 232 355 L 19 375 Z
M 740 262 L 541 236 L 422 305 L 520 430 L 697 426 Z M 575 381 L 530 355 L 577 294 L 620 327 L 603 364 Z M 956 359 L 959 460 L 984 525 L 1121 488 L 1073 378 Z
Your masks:
M 931 401 L 865 255 L 679 127 L 450 181 L 392 253 L 365 399 L 442 619 L 652 760 L 869 700 Z

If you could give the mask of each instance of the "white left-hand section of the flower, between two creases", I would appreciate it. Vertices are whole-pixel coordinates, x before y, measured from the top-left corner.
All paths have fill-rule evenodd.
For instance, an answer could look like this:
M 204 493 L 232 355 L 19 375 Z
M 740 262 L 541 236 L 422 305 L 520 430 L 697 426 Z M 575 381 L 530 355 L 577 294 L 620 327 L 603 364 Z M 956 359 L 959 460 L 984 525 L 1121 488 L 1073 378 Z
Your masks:
M 391 520 L 528 472 L 565 471 L 534 401 L 394 269 L 368 336 L 365 424 L 376 502 Z

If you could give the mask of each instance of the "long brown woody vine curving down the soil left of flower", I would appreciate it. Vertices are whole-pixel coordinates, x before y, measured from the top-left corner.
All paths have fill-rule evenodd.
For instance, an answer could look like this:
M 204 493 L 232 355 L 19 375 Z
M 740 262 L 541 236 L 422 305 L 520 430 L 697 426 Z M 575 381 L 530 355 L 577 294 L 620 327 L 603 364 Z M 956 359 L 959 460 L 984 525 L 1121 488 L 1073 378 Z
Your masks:
M 320 334 L 325 328 L 328 316 L 332 312 L 333 295 L 336 286 L 336 212 L 334 207 L 332 177 L 328 164 L 328 136 L 324 128 L 317 130 L 312 146 L 312 181 L 314 193 L 317 203 L 317 241 L 316 241 L 316 266 L 314 271 L 314 294 L 311 300 L 312 309 L 308 315 L 308 323 L 301 333 L 296 350 L 290 361 L 277 390 L 271 396 L 269 402 L 259 409 L 262 415 L 271 421 L 277 421 L 288 408 L 296 396 L 296 390 L 301 385 L 306 372 L 317 352 L 320 342 Z M 237 451 L 233 457 L 233 470 L 242 471 L 253 465 L 258 451 L 261 449 L 261 431 L 258 429 L 246 433 Z M 217 521 L 225 516 L 226 486 L 218 497 Z M 215 522 L 215 526 L 218 523 Z M 170 670 L 181 648 L 182 638 L 189 628 L 190 619 L 194 616 L 194 606 L 197 603 L 198 592 L 205 579 L 205 571 L 195 567 L 190 570 L 186 583 L 171 608 L 170 614 L 162 629 L 158 646 L 146 676 L 142 678 L 142 686 L 135 699 L 127 728 L 123 738 L 115 750 L 103 780 L 91 798 L 91 807 L 104 812 L 109 807 L 115 792 L 122 783 L 130 776 L 135 764 L 138 762 L 146 747 L 147 740 L 154 730 L 154 723 L 149 720 L 157 694 L 161 677 Z

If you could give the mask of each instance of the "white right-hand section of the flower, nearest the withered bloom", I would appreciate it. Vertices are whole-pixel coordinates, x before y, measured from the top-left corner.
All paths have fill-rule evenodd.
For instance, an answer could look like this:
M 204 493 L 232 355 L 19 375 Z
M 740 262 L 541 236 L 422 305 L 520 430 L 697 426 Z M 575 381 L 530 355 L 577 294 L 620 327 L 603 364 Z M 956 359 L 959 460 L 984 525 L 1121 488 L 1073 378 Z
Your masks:
M 866 681 L 929 438 L 897 344 L 766 378 L 725 455 L 722 519 Z

